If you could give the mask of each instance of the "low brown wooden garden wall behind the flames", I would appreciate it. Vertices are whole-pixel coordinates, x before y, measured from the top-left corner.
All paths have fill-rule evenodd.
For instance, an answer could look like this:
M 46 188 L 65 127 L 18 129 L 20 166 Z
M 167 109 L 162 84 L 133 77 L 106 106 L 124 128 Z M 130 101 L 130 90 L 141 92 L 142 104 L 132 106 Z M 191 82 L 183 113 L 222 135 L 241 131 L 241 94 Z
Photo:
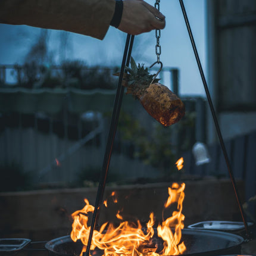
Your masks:
M 244 197 L 243 182 L 237 182 L 241 197 Z M 101 209 L 99 224 L 105 221 L 117 222 L 115 213 L 123 208 L 123 216 L 134 220 L 136 216 L 142 223 L 155 213 L 157 222 L 162 220 L 164 202 L 168 198 L 168 183 L 147 185 L 127 185 L 107 187 L 104 198 L 117 192 L 118 204 Z M 55 189 L 29 192 L 0 193 L 1 238 L 30 238 L 49 240 L 68 235 L 71 230 L 71 213 L 85 205 L 88 198 L 95 204 L 97 188 Z M 164 211 L 164 218 L 172 211 Z M 186 182 L 183 202 L 185 227 L 204 220 L 241 220 L 229 180 L 205 179 Z

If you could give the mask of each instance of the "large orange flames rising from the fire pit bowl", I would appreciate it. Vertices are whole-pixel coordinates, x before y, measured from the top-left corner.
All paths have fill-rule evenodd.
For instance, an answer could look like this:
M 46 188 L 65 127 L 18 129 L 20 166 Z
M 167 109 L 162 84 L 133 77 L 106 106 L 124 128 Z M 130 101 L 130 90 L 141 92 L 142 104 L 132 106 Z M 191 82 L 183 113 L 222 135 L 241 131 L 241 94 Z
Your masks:
M 101 228 L 94 230 L 90 249 L 99 248 L 104 251 L 104 256 L 160 256 L 160 255 L 178 255 L 186 250 L 182 237 L 182 229 L 184 227 L 183 220 L 185 216 L 182 214 L 182 202 L 185 197 L 185 183 L 181 185 L 173 183 L 168 188 L 169 197 L 164 205 L 165 208 L 170 207 L 174 202 L 177 203 L 177 211 L 173 211 L 171 217 L 164 220 L 157 227 L 157 234 L 153 228 L 155 224 L 154 213 L 149 216 L 146 224 L 147 229 L 142 228 L 141 222 L 136 223 L 122 221 L 118 227 L 114 227 L 113 223 L 104 223 Z M 86 245 L 89 238 L 90 227 L 88 227 L 88 214 L 92 213 L 94 207 L 85 199 L 85 207 L 82 210 L 75 211 L 72 214 L 74 219 L 72 224 L 71 239 L 76 242 L 80 239 L 83 243 L 83 252 L 86 251 Z M 123 217 L 118 211 L 118 218 Z M 173 230 L 172 230 L 173 229 Z M 158 245 L 153 242 L 153 236 L 158 235 L 163 239 L 164 248 L 160 252 L 156 252 Z M 93 253 L 93 252 L 92 252 Z

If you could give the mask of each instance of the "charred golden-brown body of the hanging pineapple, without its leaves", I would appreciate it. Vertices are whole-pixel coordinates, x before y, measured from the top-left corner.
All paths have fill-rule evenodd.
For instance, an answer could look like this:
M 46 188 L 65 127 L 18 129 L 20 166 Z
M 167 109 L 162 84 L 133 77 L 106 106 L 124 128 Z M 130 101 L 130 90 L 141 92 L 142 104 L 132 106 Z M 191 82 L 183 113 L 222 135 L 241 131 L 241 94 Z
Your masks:
M 185 115 L 183 102 L 161 83 L 152 83 L 137 96 L 148 114 L 163 126 L 177 123 Z

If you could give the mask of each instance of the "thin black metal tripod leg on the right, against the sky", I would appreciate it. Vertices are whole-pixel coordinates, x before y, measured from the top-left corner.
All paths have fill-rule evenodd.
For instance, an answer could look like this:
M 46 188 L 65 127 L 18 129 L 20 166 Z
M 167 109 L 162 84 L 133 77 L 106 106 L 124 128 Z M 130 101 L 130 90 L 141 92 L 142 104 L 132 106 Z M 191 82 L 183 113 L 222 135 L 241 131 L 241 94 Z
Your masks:
M 217 135 L 218 135 L 218 139 L 220 141 L 221 149 L 223 151 L 223 155 L 224 155 L 224 158 L 225 158 L 225 161 L 226 161 L 227 170 L 229 171 L 230 180 L 232 182 L 233 189 L 235 191 L 236 201 L 238 201 L 239 210 L 240 210 L 240 213 L 241 213 L 243 224 L 245 226 L 246 236 L 249 237 L 248 224 L 247 224 L 247 221 L 246 221 L 246 216 L 245 216 L 245 213 L 243 211 L 241 200 L 239 198 L 239 193 L 238 193 L 238 189 L 236 187 L 235 177 L 233 176 L 233 171 L 232 171 L 232 168 L 231 168 L 230 162 L 229 162 L 229 156 L 227 155 L 227 151 L 226 151 L 226 147 L 224 145 L 223 137 L 222 137 L 221 132 L 220 132 L 220 126 L 218 124 L 218 120 L 217 120 L 217 117 L 216 117 L 216 112 L 214 110 L 213 102 L 211 101 L 211 95 L 210 95 L 210 92 L 209 92 L 209 89 L 208 89 L 208 86 L 207 86 L 207 82 L 205 80 L 204 71 L 202 70 L 201 61 L 199 59 L 198 51 L 197 51 L 196 45 L 195 45 L 195 40 L 193 39 L 191 26 L 189 24 L 189 20 L 188 20 L 187 14 L 186 14 L 186 10 L 185 10 L 185 6 L 183 4 L 183 0 L 179 0 L 179 1 L 180 1 L 180 7 L 182 8 L 182 13 L 183 13 L 183 16 L 184 16 L 184 19 L 185 19 L 186 27 L 188 29 L 189 38 L 191 39 L 193 52 L 194 52 L 195 58 L 196 58 L 196 63 L 198 64 L 199 72 L 200 72 L 201 78 L 202 78 L 202 83 L 204 85 L 205 93 L 206 93 L 206 96 L 207 96 L 207 99 L 208 99 L 208 103 L 210 105 L 211 114 L 213 115 L 214 124 L 215 124 L 216 130 L 217 130 Z

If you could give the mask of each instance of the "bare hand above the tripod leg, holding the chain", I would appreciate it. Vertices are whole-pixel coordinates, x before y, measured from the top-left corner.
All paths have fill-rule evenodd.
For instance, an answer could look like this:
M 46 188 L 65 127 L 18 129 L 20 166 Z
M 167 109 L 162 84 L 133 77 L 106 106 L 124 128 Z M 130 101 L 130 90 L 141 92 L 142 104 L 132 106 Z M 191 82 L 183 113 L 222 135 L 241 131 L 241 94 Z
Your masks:
M 139 35 L 153 29 L 164 29 L 165 18 L 160 11 L 143 0 L 124 0 L 118 29 L 130 35 Z

